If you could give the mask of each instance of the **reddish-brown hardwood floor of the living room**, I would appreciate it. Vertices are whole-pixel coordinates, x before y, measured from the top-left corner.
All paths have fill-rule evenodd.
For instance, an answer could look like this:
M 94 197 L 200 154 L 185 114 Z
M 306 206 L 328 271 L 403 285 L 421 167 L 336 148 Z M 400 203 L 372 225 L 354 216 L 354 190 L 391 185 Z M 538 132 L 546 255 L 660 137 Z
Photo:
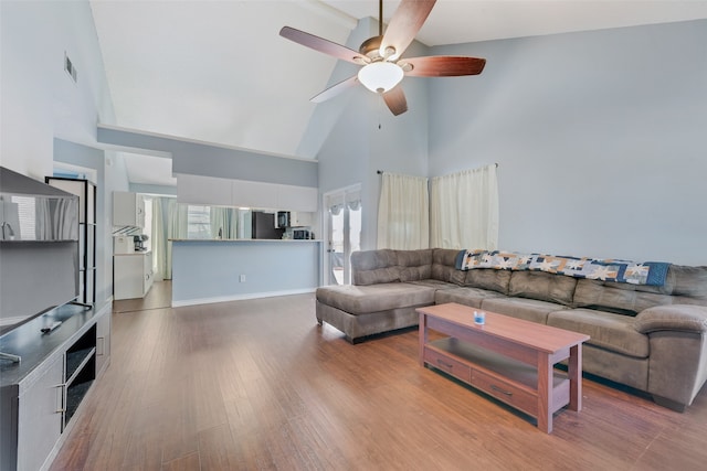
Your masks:
M 684 414 L 584 379 L 546 435 L 418 364 L 418 332 L 350 345 L 314 296 L 113 313 L 110 366 L 53 470 L 698 470 Z

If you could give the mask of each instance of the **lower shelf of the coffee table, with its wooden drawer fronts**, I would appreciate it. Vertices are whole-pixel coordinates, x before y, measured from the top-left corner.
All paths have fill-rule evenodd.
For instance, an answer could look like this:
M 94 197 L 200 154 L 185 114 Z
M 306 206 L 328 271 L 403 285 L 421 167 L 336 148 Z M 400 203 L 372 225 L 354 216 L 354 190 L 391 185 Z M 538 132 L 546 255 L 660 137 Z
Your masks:
M 424 363 L 447 373 L 472 387 L 538 418 L 538 371 L 503 354 L 455 338 L 440 339 L 424 345 Z M 570 403 L 567 373 L 552 372 L 550 414 Z M 549 431 L 549 430 L 546 430 Z

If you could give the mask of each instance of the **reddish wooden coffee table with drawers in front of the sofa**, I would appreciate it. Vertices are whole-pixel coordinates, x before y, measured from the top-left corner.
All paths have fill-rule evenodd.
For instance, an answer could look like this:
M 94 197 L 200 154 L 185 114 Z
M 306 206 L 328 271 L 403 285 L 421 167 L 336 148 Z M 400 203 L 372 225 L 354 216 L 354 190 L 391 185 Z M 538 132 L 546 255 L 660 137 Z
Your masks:
M 589 335 L 446 303 L 420 308 L 420 365 L 441 370 L 535 417 L 552 431 L 552 414 L 582 408 L 582 342 Z M 444 335 L 430 341 L 429 331 Z M 553 365 L 568 360 L 567 373 Z

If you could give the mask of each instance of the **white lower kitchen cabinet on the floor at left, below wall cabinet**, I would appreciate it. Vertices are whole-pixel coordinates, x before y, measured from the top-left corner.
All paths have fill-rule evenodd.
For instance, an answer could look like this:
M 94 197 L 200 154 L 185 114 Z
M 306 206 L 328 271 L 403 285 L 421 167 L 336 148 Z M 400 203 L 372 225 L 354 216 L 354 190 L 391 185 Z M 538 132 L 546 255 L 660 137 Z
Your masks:
M 145 298 L 152 287 L 152 253 L 116 255 L 113 257 L 113 298 Z

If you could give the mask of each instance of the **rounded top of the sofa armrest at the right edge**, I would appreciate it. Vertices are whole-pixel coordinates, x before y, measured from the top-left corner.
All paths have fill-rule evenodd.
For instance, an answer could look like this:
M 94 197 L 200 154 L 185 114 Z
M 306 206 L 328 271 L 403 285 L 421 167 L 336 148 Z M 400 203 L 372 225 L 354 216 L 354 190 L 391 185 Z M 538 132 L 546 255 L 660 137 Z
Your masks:
M 707 307 L 696 304 L 656 306 L 641 311 L 634 323 L 641 333 L 656 331 L 707 332 Z

